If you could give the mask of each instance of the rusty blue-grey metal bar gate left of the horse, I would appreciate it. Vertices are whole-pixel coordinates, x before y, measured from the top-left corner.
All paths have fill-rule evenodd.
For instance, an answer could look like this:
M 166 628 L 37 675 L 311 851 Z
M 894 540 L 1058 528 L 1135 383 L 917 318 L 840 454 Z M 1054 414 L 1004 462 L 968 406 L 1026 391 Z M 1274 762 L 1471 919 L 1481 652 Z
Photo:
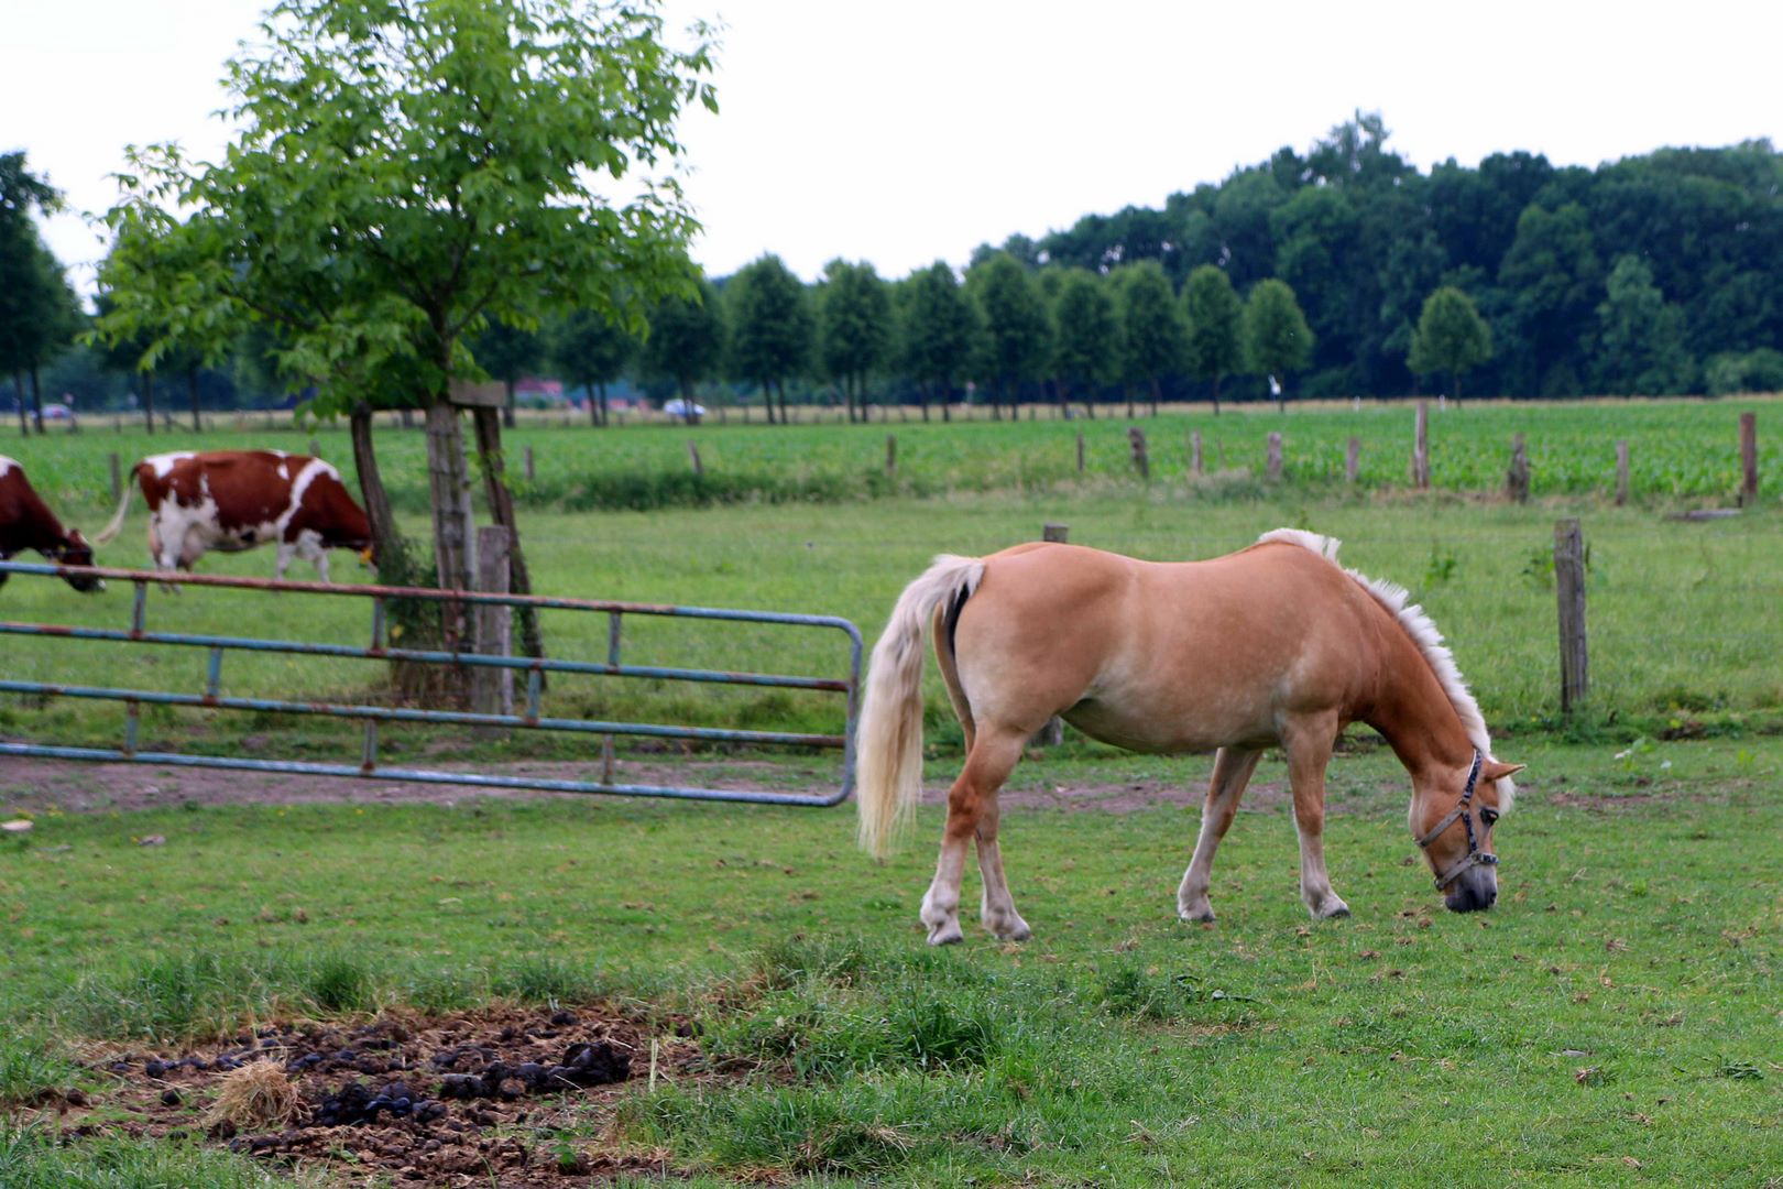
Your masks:
M 481 788 L 530 788 L 555 793 L 619 793 L 633 797 L 678 797 L 690 800 L 736 800 L 776 806 L 834 806 L 854 788 L 854 720 L 859 708 L 861 633 L 845 619 L 833 615 L 786 615 L 777 611 L 736 611 L 703 606 L 658 606 L 644 603 L 603 603 L 594 599 L 549 599 L 542 595 L 448 592 L 410 586 L 335 586 L 323 583 L 269 581 L 257 578 L 221 578 L 209 574 L 155 574 L 118 569 L 71 569 L 43 563 L 0 562 L 0 578 L 57 579 L 62 574 L 94 574 L 111 583 L 130 583 L 136 597 L 130 603 L 130 622 L 121 627 L 93 627 L 80 624 L 25 624 L 0 620 L 0 635 L 36 636 L 53 640 L 98 640 L 119 645 L 164 645 L 175 649 L 207 649 L 209 670 L 203 692 L 128 690 L 109 685 L 68 685 L 20 681 L 7 672 L 5 652 L 0 651 L 0 693 L 37 697 L 78 697 L 125 704 L 125 738 L 121 747 L 57 747 L 46 743 L 0 742 L 0 756 L 41 756 L 52 759 L 130 761 L 189 768 L 235 768 L 244 772 L 280 772 L 307 775 L 374 777 L 380 781 L 417 781 L 424 784 L 467 784 Z M 189 635 L 153 631 L 148 615 L 150 586 L 198 586 L 255 592 L 289 592 L 303 595 L 330 595 L 369 603 L 371 631 L 366 647 L 344 644 L 317 644 L 305 640 L 271 640 L 234 635 Z M 75 595 L 78 606 L 103 601 L 121 610 L 114 595 Z M 389 633 L 389 604 L 396 599 L 423 603 L 456 603 L 469 608 L 537 608 L 538 611 L 576 611 L 606 617 L 606 660 L 533 660 L 528 656 L 490 656 L 467 651 L 426 651 L 394 647 Z M 5 592 L 0 590 L 0 615 L 5 611 Z M 620 660 L 626 617 L 665 617 L 688 620 L 720 620 L 735 624 L 779 624 L 786 627 L 838 631 L 847 642 L 845 676 L 795 676 L 722 672 L 710 668 L 672 668 L 658 665 L 629 665 Z M 524 676 L 524 709 L 517 713 L 478 713 L 451 709 L 415 709 L 407 706 L 374 706 L 364 702 L 282 701 L 264 697 L 230 697 L 223 693 L 223 660 L 230 652 L 282 652 L 326 658 L 357 658 L 371 661 L 408 661 L 414 665 L 467 667 L 485 670 L 512 670 L 515 681 Z M 838 656 L 840 661 L 840 656 Z M 838 663 L 838 668 L 842 665 Z M 551 718 L 540 713 L 540 693 L 546 674 L 592 674 L 606 677 L 645 677 L 656 681 L 688 681 L 733 686 L 768 686 L 783 690 L 815 690 L 845 699 L 845 726 L 842 734 L 801 734 L 786 731 L 744 731 L 724 727 L 697 727 L 653 722 L 601 722 L 585 718 Z M 515 692 L 519 693 L 519 692 Z M 296 759 L 255 759 L 248 756 L 201 756 L 177 750 L 137 749 L 141 706 L 185 706 L 219 711 L 271 711 L 285 715 L 325 715 L 364 722 L 364 745 L 358 763 L 312 763 Z M 562 731 L 603 736 L 601 779 L 546 779 L 522 774 L 485 775 L 430 768 L 385 767 L 378 761 L 380 724 L 431 724 L 460 727 L 496 727 L 524 731 Z M 674 784 L 624 784 L 613 781 L 613 736 L 644 736 L 665 740 L 697 740 L 710 743 L 756 743 L 834 749 L 842 752 L 842 774 L 834 793 L 806 795 L 770 790 L 738 788 L 683 788 Z

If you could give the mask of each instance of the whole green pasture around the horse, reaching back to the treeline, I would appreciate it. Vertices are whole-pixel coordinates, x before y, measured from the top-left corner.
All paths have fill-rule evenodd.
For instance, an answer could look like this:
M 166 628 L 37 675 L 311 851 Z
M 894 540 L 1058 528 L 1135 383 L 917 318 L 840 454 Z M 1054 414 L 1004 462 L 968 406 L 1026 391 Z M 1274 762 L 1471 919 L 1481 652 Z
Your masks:
M 1749 408 L 1767 499 L 1726 521 L 1667 519 L 1730 499 L 1733 424 Z M 940 827 L 933 795 L 959 750 L 933 670 L 931 804 L 886 865 L 854 850 L 850 809 L 415 799 L 376 783 L 341 784 L 344 804 L 253 804 L 255 777 L 239 779 L 244 804 L 218 804 L 155 768 L 64 797 L 0 765 L 0 816 L 34 818 L 0 841 L 0 1184 L 417 1184 L 348 1137 L 257 1159 L 201 1144 L 198 1114 L 216 1087 L 187 1077 L 180 1107 L 132 1111 L 162 1086 L 144 1062 L 294 1020 L 394 1018 L 419 1032 L 417 1020 L 563 1007 L 660 1041 L 660 1077 L 644 1075 L 640 1048 L 615 1087 L 483 1125 L 474 1177 L 419 1184 L 1428 1184 L 1432 1171 L 1482 1185 L 1772 1184 L 1783 1175 L 1783 469 L 1767 437 L 1778 408 L 1450 410 L 1432 417 L 1439 490 L 1428 494 L 1403 490 L 1405 406 L 1141 419 L 1150 483 L 1130 474 L 1127 422 L 1105 419 L 522 428 L 510 451 L 537 455 L 538 480 L 521 496 L 540 592 L 843 615 L 868 642 L 929 556 L 1032 540 L 1045 521 L 1148 558 L 1211 556 L 1284 524 L 1341 537 L 1344 563 L 1425 603 L 1500 756 L 1530 765 L 1500 825 L 1500 906 L 1441 911 L 1405 829 L 1403 770 L 1357 731 L 1332 765 L 1327 827 L 1353 916 L 1305 918 L 1271 754 L 1220 852 L 1218 923 L 1182 925 L 1173 891 L 1209 761 L 1068 740 L 1016 768 L 1004 816 L 1034 941 L 1002 947 L 977 931 L 974 872 L 966 943 L 931 952 L 916 904 Z M 1205 435 L 1209 471 L 1223 453 L 1223 474 L 1184 480 L 1189 428 Z M 1287 478 L 1271 487 L 1257 472 L 1278 428 Z M 899 435 L 890 478 L 886 431 Z M 1514 431 L 1530 435 L 1535 472 L 1521 506 L 1489 497 Z M 1353 492 L 1341 478 L 1350 435 L 1364 437 Z M 307 437 L 253 440 L 303 449 Z M 1635 499 L 1615 508 L 1623 437 Z M 319 439 L 348 462 L 344 433 Z M 688 439 L 711 483 L 736 474 L 738 487 L 688 485 Z M 87 528 L 109 515 L 107 451 L 128 460 L 193 444 L 242 437 L 89 428 L 7 453 Z M 380 451 L 419 535 L 421 435 L 380 431 Z M 638 510 L 615 510 L 628 504 Z M 1571 720 L 1557 697 L 1560 515 L 1583 521 L 1590 549 L 1592 695 Z M 137 563 L 141 529 L 137 503 L 102 560 Z M 337 576 L 362 581 L 341 562 Z M 262 551 L 201 569 L 269 576 L 271 565 Z M 169 629 L 360 642 L 364 610 L 348 603 L 194 590 L 150 606 Z M 14 578 L 0 611 L 116 626 L 128 594 L 77 599 Z M 556 656 L 604 652 L 601 619 L 551 613 L 544 626 Z M 201 652 L 16 636 L 0 647 L 5 672 L 30 679 L 184 690 L 203 679 Z M 640 663 L 717 668 L 842 663 L 833 645 L 765 627 L 628 624 L 629 649 Z M 385 695 L 366 663 L 314 658 L 230 668 L 225 688 Z M 599 677 L 555 681 L 547 706 L 768 729 L 842 720 L 833 699 Z M 4 736 L 112 743 L 119 731 L 105 704 L 0 702 Z M 497 770 L 590 759 L 533 736 L 390 740 Z M 150 715 L 153 742 L 353 754 L 348 729 L 269 717 Z M 622 763 L 667 761 L 629 749 Z M 822 758 L 733 750 L 685 763 L 801 790 L 831 770 Z M 87 770 L 70 772 L 57 790 Z M 70 1105 L 70 1091 L 86 1105 Z M 98 1136 L 61 1146 L 59 1128 Z M 526 1164 L 514 1162 L 519 1148 Z

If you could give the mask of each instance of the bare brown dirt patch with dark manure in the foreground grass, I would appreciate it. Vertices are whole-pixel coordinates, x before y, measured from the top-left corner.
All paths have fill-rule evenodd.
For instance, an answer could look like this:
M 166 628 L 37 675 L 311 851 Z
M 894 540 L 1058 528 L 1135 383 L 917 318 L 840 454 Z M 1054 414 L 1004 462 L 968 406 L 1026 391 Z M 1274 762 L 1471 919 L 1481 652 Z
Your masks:
M 207 1125 L 230 1071 L 266 1059 L 291 1078 L 296 1118 L 276 1130 Z M 738 1077 L 706 1068 L 686 1020 L 649 1030 L 604 1007 L 492 1007 L 107 1052 L 94 1070 L 114 1084 L 73 1095 L 59 1114 L 64 1134 L 203 1137 L 271 1164 L 321 1164 L 348 1184 L 563 1189 L 676 1175 L 665 1157 L 587 1137 L 653 1064 L 658 1080 L 678 1084 Z

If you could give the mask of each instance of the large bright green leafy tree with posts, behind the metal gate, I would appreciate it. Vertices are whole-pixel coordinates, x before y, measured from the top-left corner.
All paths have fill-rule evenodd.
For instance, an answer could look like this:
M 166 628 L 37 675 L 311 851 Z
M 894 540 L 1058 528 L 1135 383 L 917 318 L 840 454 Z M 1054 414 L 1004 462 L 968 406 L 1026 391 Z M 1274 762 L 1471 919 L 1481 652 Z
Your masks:
M 287 371 L 321 383 L 317 412 L 360 417 L 357 455 L 371 406 L 424 408 L 435 569 L 469 586 L 471 476 L 448 399 L 474 374 L 465 339 L 489 317 L 619 316 L 620 285 L 640 301 L 692 287 L 695 225 L 672 175 L 624 205 L 597 175 L 674 159 L 681 105 L 715 105 L 710 68 L 706 45 L 663 46 L 647 0 L 282 0 L 228 66 L 225 155 L 130 152 L 109 221 L 141 234 L 119 235 L 132 250 L 107 330 L 150 328 L 153 355 L 271 323 Z M 499 417 L 476 421 L 494 519 L 514 531 Z M 514 540 L 514 588 L 530 590 Z

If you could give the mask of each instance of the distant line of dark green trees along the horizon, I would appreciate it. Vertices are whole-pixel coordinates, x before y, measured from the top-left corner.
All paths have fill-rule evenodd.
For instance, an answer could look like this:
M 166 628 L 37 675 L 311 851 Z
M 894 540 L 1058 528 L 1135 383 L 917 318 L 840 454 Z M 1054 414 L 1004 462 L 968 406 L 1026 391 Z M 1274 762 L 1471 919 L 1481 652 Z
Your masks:
M 701 282 L 697 301 L 647 310 L 647 340 L 583 314 L 490 326 L 472 351 L 510 385 L 547 374 L 585 390 L 596 421 L 612 385 L 861 417 L 886 403 L 1266 398 L 1269 376 L 1286 398 L 1783 389 L 1783 155 L 1769 141 L 1598 169 L 1500 153 L 1428 173 L 1385 143 L 1382 119 L 1359 116 L 1163 209 L 984 244 L 963 278 L 945 262 L 893 282 L 833 260 L 804 283 L 767 255 Z M 46 257 L 20 232 L 20 253 Z M 45 292 L 66 291 L 55 282 Z M 78 346 L 84 321 L 59 314 L 32 351 L 0 333 L 0 410 L 37 364 L 41 401 L 68 392 L 87 410 L 137 394 L 182 412 L 291 399 L 271 342 L 166 357 L 157 394 L 132 374 L 130 344 Z

